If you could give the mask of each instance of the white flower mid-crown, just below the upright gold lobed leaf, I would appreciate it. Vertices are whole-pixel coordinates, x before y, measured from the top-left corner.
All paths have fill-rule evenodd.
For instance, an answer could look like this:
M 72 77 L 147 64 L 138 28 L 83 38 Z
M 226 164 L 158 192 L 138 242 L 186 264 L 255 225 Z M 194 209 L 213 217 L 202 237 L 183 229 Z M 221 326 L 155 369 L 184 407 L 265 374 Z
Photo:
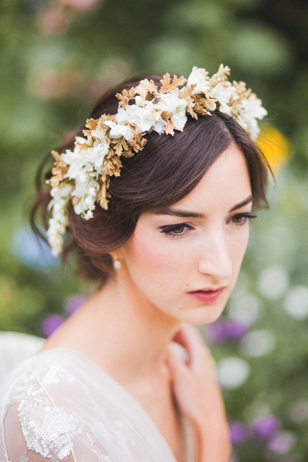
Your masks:
M 186 124 L 186 107 L 187 101 L 183 98 L 179 98 L 178 93 L 172 91 L 160 95 L 158 103 L 154 107 L 161 111 L 172 112 L 171 122 L 175 125 L 178 130 L 182 130 Z

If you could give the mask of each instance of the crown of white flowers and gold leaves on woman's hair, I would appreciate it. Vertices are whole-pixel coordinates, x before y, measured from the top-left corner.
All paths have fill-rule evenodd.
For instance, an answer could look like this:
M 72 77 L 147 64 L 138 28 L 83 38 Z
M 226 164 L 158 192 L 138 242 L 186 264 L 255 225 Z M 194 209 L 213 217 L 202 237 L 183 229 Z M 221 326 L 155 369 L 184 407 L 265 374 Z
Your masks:
M 75 213 L 85 220 L 93 217 L 95 202 L 107 209 L 110 177 L 120 175 L 120 157 L 131 157 L 142 150 L 147 132 L 173 136 L 175 130 L 183 131 L 187 114 L 198 119 L 198 114 L 211 115 L 219 109 L 235 119 L 252 139 L 257 138 L 256 119 L 263 119 L 267 112 L 244 82 L 228 81 L 229 73 L 230 69 L 221 64 L 209 78 L 205 69 L 195 66 L 187 81 L 176 75 L 171 81 L 165 74 L 160 89 L 152 80 L 144 79 L 116 95 L 117 114 L 87 120 L 84 137 L 75 137 L 73 150 L 67 149 L 61 155 L 52 151 L 55 162 L 52 177 L 47 180 L 52 187 L 48 206 L 52 218 L 47 237 L 54 256 L 63 250 L 69 200 Z M 129 104 L 131 100 L 133 104 Z

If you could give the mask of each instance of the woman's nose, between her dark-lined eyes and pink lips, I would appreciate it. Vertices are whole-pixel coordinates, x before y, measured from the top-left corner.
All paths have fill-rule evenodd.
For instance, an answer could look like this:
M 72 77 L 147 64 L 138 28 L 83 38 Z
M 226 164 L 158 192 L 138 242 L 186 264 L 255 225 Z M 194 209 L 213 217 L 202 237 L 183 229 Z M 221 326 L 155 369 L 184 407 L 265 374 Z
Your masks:
M 213 230 L 200 248 L 198 269 L 200 273 L 226 281 L 232 275 L 232 268 L 228 240 L 222 231 Z

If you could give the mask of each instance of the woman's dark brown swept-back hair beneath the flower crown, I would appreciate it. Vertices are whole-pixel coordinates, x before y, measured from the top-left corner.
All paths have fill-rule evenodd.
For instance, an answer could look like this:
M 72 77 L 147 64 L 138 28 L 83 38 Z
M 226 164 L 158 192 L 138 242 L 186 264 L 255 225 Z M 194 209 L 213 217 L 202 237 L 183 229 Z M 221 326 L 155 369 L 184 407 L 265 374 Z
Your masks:
M 162 75 L 127 81 L 105 93 L 90 117 L 98 119 L 103 113 L 117 113 L 119 101 L 115 94 L 138 85 L 145 77 L 160 86 Z M 73 130 L 59 151 L 72 148 L 75 136 L 83 136 L 83 128 L 84 125 Z M 87 279 L 104 283 L 113 272 L 109 253 L 129 239 L 139 216 L 144 211 L 166 208 L 185 197 L 231 143 L 236 143 L 245 157 L 254 208 L 267 206 L 267 162 L 254 141 L 228 115 L 216 110 L 212 115 L 199 115 L 198 120 L 188 116 L 183 132 L 176 131 L 174 137 L 153 131 L 146 138 L 142 151 L 131 158 L 121 158 L 121 176 L 111 177 L 108 210 L 97 206 L 94 217 L 86 221 L 76 215 L 70 205 L 64 256 L 74 253 L 80 273 Z M 36 233 L 39 233 L 35 224 L 38 211 L 47 228 L 47 204 L 51 199 L 49 189 L 42 188 L 42 172 L 43 166 L 37 173 L 37 197 L 31 213 Z M 50 176 L 49 170 L 44 179 Z

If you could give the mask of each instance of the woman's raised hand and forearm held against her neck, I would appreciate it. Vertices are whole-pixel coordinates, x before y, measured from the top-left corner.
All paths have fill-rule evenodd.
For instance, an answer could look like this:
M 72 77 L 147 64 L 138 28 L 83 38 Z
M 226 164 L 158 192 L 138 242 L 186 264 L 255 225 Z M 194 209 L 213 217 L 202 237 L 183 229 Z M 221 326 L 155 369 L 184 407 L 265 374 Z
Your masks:
M 172 343 L 168 361 L 177 405 L 194 428 L 196 462 L 229 462 L 231 444 L 214 359 L 197 329 L 183 323 L 174 341 L 188 353 L 185 362 Z

